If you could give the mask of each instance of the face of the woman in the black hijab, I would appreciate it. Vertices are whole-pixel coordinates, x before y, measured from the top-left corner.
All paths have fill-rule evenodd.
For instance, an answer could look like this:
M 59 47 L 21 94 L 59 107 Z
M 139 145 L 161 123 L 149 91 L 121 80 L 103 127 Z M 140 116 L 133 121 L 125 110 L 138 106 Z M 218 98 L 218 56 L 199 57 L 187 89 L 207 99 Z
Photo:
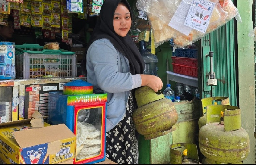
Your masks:
M 121 36 L 125 37 L 131 28 L 132 20 L 130 11 L 128 8 L 121 4 L 118 4 L 113 18 L 113 26 L 115 32 Z

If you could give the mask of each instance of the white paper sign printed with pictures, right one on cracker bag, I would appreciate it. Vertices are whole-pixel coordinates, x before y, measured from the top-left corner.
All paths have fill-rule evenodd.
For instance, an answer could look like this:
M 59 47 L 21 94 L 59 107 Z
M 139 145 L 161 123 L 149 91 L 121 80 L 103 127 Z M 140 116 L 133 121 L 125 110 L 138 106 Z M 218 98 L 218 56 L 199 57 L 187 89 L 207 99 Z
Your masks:
M 205 33 L 215 3 L 206 0 L 193 0 L 184 25 Z

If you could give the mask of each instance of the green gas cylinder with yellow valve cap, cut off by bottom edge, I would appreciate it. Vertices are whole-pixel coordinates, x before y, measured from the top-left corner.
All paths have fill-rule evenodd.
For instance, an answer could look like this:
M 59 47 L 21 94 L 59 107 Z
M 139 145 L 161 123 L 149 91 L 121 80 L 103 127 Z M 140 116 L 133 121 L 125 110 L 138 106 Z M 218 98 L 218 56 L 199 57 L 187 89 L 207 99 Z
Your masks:
M 170 145 L 171 164 L 202 164 L 199 162 L 197 146 L 193 143 L 175 143 Z

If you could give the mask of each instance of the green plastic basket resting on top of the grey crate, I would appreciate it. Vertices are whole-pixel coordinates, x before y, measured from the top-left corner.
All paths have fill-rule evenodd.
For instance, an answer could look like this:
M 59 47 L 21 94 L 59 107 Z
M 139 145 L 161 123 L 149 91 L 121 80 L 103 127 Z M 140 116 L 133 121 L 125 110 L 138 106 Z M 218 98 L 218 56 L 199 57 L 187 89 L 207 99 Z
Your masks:
M 15 45 L 15 54 L 22 54 L 22 53 L 29 53 L 29 54 L 66 54 L 66 55 L 76 54 L 75 52 L 71 52 L 71 51 L 64 50 L 64 49 L 59 49 L 59 50 L 43 49 L 43 46 L 40 46 L 39 44 Z

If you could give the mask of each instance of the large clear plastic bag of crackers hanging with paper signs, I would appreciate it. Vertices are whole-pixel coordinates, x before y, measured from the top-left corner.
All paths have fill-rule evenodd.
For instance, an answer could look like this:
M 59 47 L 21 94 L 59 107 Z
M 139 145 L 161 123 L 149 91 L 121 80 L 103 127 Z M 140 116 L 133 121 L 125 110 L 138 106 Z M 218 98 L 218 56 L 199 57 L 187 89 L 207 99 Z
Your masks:
M 242 22 L 231 0 L 138 0 L 136 6 L 147 13 L 155 47 L 173 39 L 173 51 L 192 45 L 232 18 Z

